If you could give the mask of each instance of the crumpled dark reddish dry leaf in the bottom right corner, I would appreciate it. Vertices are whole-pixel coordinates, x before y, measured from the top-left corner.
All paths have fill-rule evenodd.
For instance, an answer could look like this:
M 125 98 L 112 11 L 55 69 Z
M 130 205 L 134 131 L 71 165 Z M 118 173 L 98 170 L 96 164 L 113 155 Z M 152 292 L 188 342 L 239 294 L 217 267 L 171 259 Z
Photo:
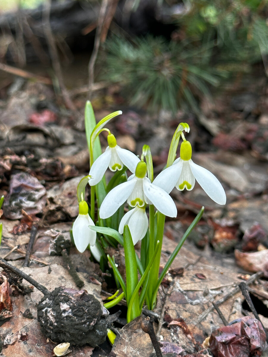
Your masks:
M 214 357 L 261 356 L 265 341 L 262 324 L 244 316 L 215 330 L 210 336 L 209 347 Z

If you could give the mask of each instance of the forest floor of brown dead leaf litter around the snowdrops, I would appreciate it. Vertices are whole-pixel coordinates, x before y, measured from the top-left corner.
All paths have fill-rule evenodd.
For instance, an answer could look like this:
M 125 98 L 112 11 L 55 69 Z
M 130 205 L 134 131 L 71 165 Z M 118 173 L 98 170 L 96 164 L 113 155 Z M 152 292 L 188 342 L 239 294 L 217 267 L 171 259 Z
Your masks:
M 85 96 L 75 95 L 86 75 L 86 67 L 79 62 L 66 70 L 76 112 L 64 108 L 51 85 L 4 72 L 0 78 L 0 195 L 5 196 L 0 257 L 49 291 L 59 286 L 76 288 L 66 259 L 56 255 L 55 239 L 61 232 L 70 241 L 69 231 L 78 215 L 76 188 L 89 172 Z M 179 122 L 188 122 L 193 161 L 212 171 L 225 189 L 225 206 L 210 200 L 197 183 L 192 191 L 172 191 L 178 216 L 165 224 L 162 266 L 202 206 L 205 212 L 160 286 L 155 308 L 159 322 L 155 331 L 163 356 L 211 356 L 204 341 L 224 325 L 213 302 L 223 300 L 219 308 L 227 322 L 253 317 L 240 282 L 249 283 L 253 304 L 268 328 L 267 77 L 258 66 L 251 75 L 237 75 L 211 98 L 203 98 L 200 116 L 150 114 L 130 107 L 120 90 L 118 85 L 106 84 L 94 91 L 91 100 L 97 121 L 112 111 L 123 111 L 108 125 L 118 145 L 140 155 L 142 146 L 148 144 L 156 175 L 165 165 L 174 130 Z M 100 140 L 105 148 L 105 137 Z M 35 240 L 25 262 L 33 227 Z M 136 247 L 139 251 L 139 244 Z M 114 254 L 124 263 L 123 248 Z M 89 251 L 80 254 L 71 247 L 69 258 L 89 293 L 104 301 L 115 292 L 99 265 L 89 259 Z M 256 272 L 262 273 L 249 280 Z M 5 276 L 10 279 L 8 270 Z M 37 320 L 36 306 L 43 293 L 36 288 L 23 293 L 13 282 L 10 302 L 3 274 L 0 279 L 2 356 L 51 356 L 56 343 L 45 338 Z M 112 349 L 108 342 L 96 348 L 71 346 L 69 356 L 150 355 L 153 347 L 142 331 L 143 318 L 126 324 L 124 304 L 116 308 L 122 313 L 114 323 L 120 332 Z M 239 342 L 236 346 L 224 356 L 240 356 Z

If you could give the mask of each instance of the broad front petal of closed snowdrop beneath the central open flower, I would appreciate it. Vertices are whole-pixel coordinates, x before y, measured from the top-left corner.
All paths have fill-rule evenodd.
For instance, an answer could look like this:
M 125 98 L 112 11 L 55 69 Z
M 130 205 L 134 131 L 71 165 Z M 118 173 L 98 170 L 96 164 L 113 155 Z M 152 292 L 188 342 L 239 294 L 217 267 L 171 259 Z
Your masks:
M 145 213 L 145 210 L 139 208 L 138 206 L 131 211 L 134 212 L 129 219 L 128 226 L 133 240 L 133 244 L 135 245 L 145 236 L 147 232 L 148 217 Z

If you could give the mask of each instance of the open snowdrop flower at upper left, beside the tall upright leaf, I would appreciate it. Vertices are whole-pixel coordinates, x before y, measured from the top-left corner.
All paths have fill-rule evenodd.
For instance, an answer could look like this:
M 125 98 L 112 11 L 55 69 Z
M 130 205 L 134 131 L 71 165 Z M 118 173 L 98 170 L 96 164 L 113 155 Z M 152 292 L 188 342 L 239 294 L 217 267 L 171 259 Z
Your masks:
M 89 175 L 91 175 L 91 178 L 88 181 L 90 186 L 94 186 L 100 182 L 108 166 L 111 171 L 120 171 L 123 168 L 123 165 L 125 165 L 132 173 L 134 173 L 136 166 L 140 161 L 133 152 L 118 146 L 113 134 L 108 135 L 107 141 L 108 147 L 105 152 L 93 162 L 93 165 L 90 168 Z

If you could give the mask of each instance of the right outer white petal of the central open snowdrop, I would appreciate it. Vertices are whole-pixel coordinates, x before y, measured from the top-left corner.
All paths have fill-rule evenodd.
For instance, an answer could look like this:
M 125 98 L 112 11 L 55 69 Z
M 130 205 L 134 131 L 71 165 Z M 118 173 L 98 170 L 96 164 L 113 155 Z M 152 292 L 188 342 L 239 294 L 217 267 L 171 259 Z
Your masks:
M 166 191 L 164 191 L 162 188 L 153 185 L 150 182 L 149 178 L 144 177 L 143 180 L 144 180 L 143 189 L 144 189 L 145 201 L 146 198 L 148 198 L 153 203 L 155 208 L 159 212 L 163 213 L 165 216 L 176 217 L 177 208 L 174 201 L 169 196 L 169 194 Z

